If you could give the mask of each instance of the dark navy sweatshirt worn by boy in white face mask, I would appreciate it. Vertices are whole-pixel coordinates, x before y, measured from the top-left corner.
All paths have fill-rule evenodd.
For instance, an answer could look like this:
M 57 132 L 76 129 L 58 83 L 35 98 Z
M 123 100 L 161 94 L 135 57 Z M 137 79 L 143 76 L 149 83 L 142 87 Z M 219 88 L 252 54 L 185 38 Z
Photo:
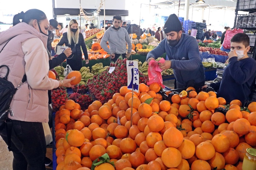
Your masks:
M 238 61 L 237 57 L 232 57 L 223 72 L 222 80 L 210 86 L 217 91 L 217 97 L 223 97 L 227 102 L 238 99 L 244 103 L 249 100 L 250 87 L 255 76 L 256 61 L 253 58 Z

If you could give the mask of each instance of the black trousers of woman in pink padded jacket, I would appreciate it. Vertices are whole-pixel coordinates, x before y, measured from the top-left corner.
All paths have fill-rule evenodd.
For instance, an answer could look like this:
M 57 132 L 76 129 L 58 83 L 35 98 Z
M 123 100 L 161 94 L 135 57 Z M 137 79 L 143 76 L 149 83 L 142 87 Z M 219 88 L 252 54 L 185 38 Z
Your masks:
M 13 169 L 45 170 L 46 142 L 42 123 L 12 120 L 12 124 Z M 7 143 L 6 127 L 0 135 Z

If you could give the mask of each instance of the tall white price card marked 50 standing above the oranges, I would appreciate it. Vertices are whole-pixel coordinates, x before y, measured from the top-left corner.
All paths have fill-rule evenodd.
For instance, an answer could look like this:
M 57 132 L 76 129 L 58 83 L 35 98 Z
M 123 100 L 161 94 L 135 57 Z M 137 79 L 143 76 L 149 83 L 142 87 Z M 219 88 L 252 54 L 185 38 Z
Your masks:
M 129 90 L 139 92 L 139 69 L 138 62 L 126 60 L 127 67 L 127 87 Z

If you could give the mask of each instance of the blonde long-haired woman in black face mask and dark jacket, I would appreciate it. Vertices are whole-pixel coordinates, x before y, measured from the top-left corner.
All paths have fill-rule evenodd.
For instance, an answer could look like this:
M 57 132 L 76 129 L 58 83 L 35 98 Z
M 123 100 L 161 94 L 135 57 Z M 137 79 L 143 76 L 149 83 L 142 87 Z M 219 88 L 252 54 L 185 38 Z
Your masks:
M 79 71 L 82 64 L 82 51 L 84 54 L 84 59 L 86 64 L 89 63 L 87 48 L 83 39 L 83 34 L 78 31 L 78 22 L 75 19 L 71 19 L 68 24 L 67 32 L 63 33 L 63 37 L 57 45 L 68 46 L 72 50 L 72 54 L 67 57 L 67 65 L 71 67 L 72 70 Z

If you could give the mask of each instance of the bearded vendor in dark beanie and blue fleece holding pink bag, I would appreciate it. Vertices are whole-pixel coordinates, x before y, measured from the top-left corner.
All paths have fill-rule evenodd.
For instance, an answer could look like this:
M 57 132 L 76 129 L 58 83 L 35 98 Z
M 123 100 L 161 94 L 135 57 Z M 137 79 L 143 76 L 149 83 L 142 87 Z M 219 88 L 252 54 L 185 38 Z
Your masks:
M 194 87 L 197 91 L 205 84 L 205 72 L 199 56 L 197 40 L 182 33 L 182 25 L 175 14 L 164 25 L 166 38 L 147 54 L 147 62 L 166 53 L 166 61 L 159 64 L 162 70 L 173 68 L 176 88 Z

